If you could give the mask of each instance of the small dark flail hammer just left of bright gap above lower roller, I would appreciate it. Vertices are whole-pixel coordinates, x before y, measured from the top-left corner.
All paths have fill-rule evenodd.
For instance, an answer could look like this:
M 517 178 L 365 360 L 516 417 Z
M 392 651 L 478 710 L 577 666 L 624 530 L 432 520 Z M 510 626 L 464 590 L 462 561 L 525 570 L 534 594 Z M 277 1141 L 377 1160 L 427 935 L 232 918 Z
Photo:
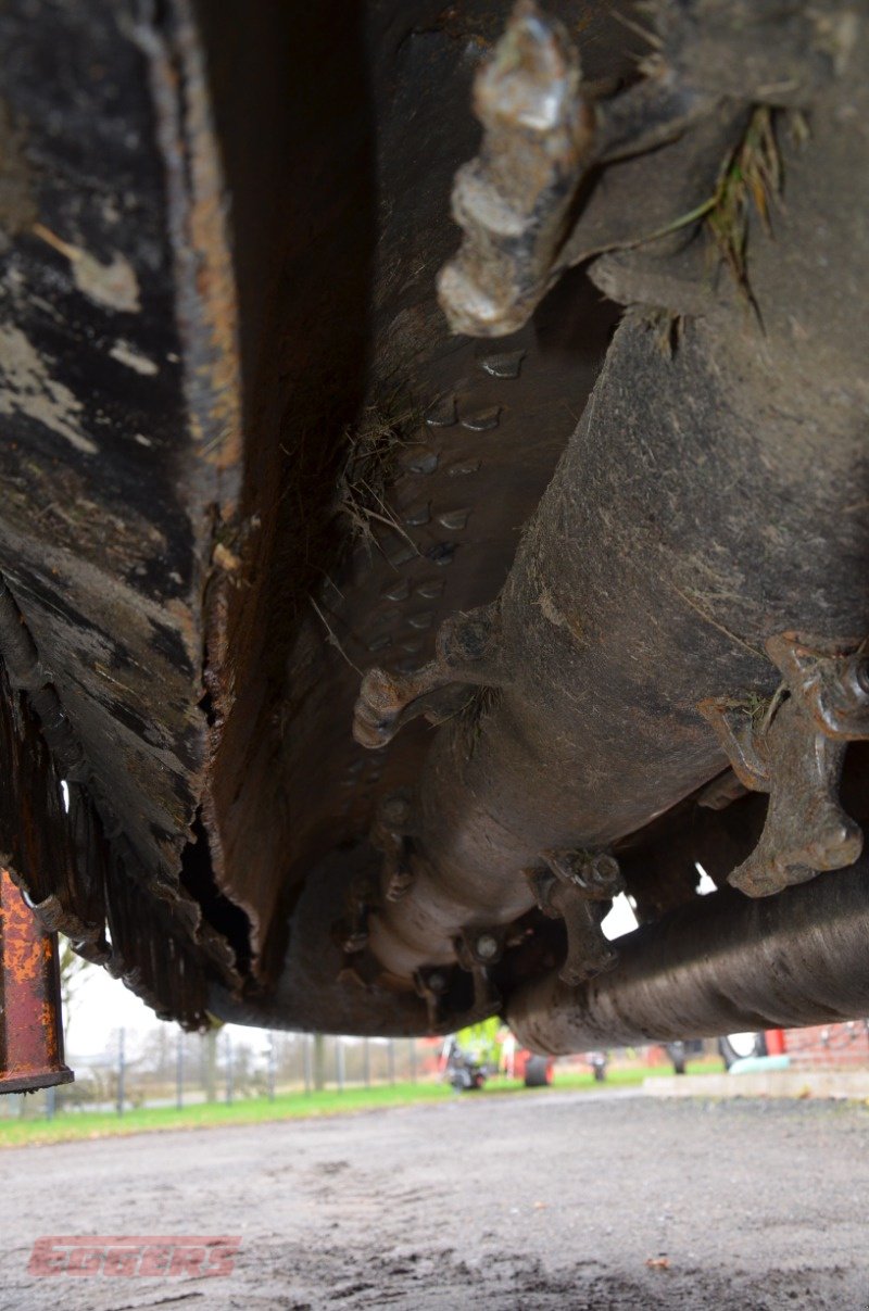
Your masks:
M 600 931 L 595 902 L 625 890 L 619 861 L 607 852 L 545 851 L 548 869 L 527 871 L 537 905 L 550 919 L 564 919 L 568 956 L 560 970 L 565 983 L 582 983 L 611 969 L 617 952 Z

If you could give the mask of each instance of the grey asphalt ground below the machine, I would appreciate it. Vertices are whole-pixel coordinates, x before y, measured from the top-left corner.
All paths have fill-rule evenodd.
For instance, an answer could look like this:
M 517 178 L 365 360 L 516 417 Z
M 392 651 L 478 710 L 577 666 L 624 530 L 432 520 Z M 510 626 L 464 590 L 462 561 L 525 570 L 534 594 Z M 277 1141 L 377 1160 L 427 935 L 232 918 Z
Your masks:
M 0 1308 L 869 1308 L 869 1109 L 544 1092 L 0 1152 Z M 33 1277 L 45 1235 L 228 1276 Z M 649 1264 L 654 1262 L 654 1264 Z

